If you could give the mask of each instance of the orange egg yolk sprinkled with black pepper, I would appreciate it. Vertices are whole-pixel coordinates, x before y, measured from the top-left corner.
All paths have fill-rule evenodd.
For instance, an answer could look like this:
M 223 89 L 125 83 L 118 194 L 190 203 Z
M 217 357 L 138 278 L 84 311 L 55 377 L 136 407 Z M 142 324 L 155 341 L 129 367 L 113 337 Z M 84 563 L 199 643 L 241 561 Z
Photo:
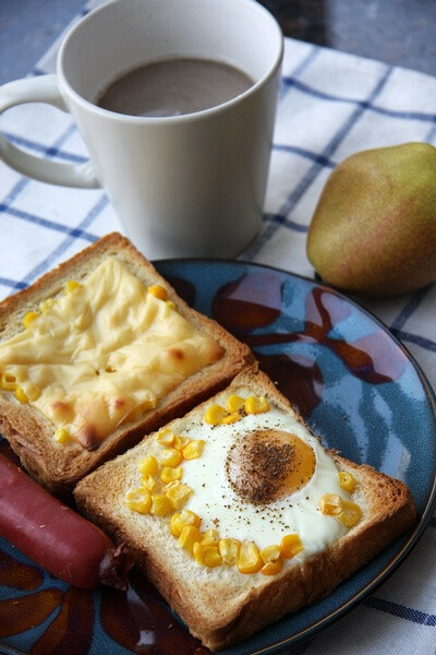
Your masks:
M 237 440 L 228 453 L 226 473 L 241 499 L 268 504 L 304 487 L 315 462 L 312 448 L 296 434 L 268 429 Z

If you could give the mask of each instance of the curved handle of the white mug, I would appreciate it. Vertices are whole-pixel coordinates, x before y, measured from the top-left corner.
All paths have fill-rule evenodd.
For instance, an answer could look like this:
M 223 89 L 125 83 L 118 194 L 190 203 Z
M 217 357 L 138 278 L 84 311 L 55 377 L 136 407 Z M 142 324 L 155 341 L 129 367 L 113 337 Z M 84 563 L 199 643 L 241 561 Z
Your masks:
M 0 87 L 0 114 L 24 103 L 47 103 L 62 111 L 69 111 L 58 86 L 58 76 L 41 75 L 9 82 Z M 84 164 L 60 164 L 35 157 L 13 145 L 0 134 L 0 158 L 23 175 L 64 187 L 97 189 L 101 187 L 90 160 Z

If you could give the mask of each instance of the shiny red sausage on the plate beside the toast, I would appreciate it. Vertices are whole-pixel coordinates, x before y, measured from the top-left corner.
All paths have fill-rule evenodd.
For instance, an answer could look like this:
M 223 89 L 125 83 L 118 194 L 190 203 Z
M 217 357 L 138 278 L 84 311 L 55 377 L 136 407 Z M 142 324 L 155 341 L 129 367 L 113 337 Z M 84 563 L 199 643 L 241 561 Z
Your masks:
M 0 535 L 56 577 L 90 590 L 125 590 L 133 562 L 80 516 L 0 454 Z

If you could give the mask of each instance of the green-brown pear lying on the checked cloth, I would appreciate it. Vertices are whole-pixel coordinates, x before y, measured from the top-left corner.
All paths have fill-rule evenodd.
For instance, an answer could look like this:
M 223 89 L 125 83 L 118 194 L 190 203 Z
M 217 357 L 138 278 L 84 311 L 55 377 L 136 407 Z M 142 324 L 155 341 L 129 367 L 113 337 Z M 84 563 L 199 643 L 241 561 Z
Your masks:
M 340 289 L 388 296 L 436 279 L 436 147 L 404 143 L 359 152 L 320 194 L 307 257 Z

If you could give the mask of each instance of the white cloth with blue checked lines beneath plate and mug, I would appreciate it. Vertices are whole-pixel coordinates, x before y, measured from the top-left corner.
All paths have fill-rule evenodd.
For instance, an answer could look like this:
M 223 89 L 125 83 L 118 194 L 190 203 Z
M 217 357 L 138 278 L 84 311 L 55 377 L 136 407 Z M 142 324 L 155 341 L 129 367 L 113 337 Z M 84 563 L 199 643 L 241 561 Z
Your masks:
M 101 4 L 89 2 L 84 12 Z M 59 40 L 33 71 L 55 71 Z M 47 105 L 5 112 L 0 129 L 34 154 L 82 162 L 86 148 L 68 114 Z M 368 147 L 436 144 L 436 79 L 286 39 L 283 80 L 263 233 L 243 260 L 313 277 L 307 225 L 336 164 Z M 122 230 L 102 191 L 23 178 L 0 163 L 0 298 L 111 230 Z M 401 340 L 436 386 L 436 285 L 366 303 Z M 376 593 L 310 642 L 284 653 L 436 653 L 436 520 Z

